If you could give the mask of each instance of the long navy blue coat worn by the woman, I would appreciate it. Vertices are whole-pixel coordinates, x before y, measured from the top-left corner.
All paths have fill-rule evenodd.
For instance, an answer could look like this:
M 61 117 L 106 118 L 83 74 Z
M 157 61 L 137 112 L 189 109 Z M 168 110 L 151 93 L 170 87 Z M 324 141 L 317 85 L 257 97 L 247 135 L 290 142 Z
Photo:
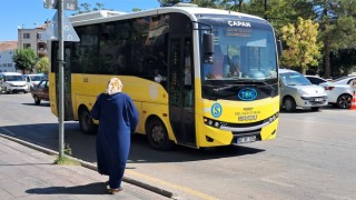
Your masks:
M 122 92 L 101 93 L 90 112 L 99 120 L 97 136 L 98 171 L 109 176 L 110 188 L 121 187 L 130 150 L 130 134 L 138 123 L 138 111 L 131 98 Z

